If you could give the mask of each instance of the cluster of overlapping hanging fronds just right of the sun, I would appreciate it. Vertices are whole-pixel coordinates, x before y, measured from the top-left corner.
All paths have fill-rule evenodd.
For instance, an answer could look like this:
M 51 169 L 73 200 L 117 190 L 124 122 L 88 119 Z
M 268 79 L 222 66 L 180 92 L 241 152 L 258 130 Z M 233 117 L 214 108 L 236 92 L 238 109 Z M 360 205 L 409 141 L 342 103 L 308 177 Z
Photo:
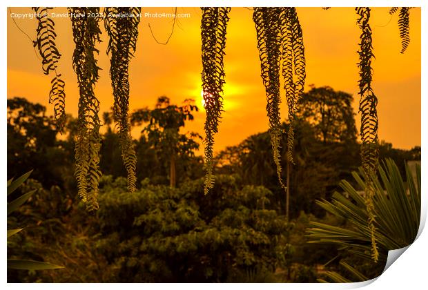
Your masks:
M 289 130 L 287 132 L 287 159 L 293 162 L 293 120 L 296 104 L 304 90 L 306 78 L 302 28 L 295 8 L 254 8 L 253 21 L 257 32 L 262 80 L 266 90 L 267 115 L 273 160 L 277 168 L 278 181 L 282 182 L 280 142 L 282 128 L 280 118 L 280 67 L 287 105 L 289 107 Z

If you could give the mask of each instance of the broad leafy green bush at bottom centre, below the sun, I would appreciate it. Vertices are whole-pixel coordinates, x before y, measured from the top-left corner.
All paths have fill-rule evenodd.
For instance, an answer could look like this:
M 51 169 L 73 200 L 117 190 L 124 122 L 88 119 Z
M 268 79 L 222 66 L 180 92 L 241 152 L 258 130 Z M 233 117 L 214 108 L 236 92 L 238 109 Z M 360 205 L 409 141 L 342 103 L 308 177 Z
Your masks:
M 262 186 L 219 175 L 208 197 L 202 179 L 126 195 L 117 182 L 104 184 L 98 212 L 110 282 L 224 282 L 280 266 L 287 225 Z

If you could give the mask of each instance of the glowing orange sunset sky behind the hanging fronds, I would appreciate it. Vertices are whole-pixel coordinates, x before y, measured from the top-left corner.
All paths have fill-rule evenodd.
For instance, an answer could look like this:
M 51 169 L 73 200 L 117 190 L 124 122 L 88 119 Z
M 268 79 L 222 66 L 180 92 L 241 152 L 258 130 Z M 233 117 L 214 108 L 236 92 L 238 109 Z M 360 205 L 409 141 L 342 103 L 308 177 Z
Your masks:
M 373 61 L 373 87 L 378 96 L 379 139 L 391 142 L 396 148 L 420 145 L 420 8 L 410 12 L 411 43 L 405 55 L 400 55 L 398 14 L 388 14 L 389 8 L 373 8 L 371 28 L 376 60 Z M 143 8 L 143 12 L 173 12 L 173 8 Z M 31 12 L 30 8 L 12 8 L 12 12 Z M 66 12 L 66 8 L 55 8 Z M 156 43 L 148 23 L 159 41 L 171 32 L 172 19 L 142 18 L 135 58 L 130 64 L 130 110 L 149 106 L 157 97 L 166 95 L 173 103 L 193 98 L 200 107 L 195 121 L 188 123 L 189 131 L 203 133 L 205 112 L 201 97 L 201 41 L 200 8 L 178 8 L 179 13 L 191 17 L 179 19 L 168 45 Z M 354 96 L 354 110 L 358 113 L 358 41 L 353 8 L 298 8 L 307 59 L 307 88 L 331 86 Z M 215 135 L 215 151 L 240 143 L 254 133 L 266 131 L 266 97 L 260 78 L 252 11 L 232 8 L 228 23 L 226 56 L 226 85 L 224 110 L 220 131 Z M 35 39 L 35 19 L 15 19 L 19 27 Z M 59 70 L 66 81 L 66 112 L 77 115 L 77 79 L 72 70 L 72 31 L 70 19 L 55 19 L 57 47 L 62 58 Z M 104 31 L 104 30 L 103 30 Z M 100 79 L 95 93 L 101 101 L 101 112 L 113 104 L 108 76 L 110 63 L 106 56 L 106 35 L 99 45 Z M 26 97 L 48 107 L 50 79 L 43 75 L 30 40 L 14 25 L 8 10 L 8 98 Z M 282 92 L 284 93 L 284 92 Z M 283 102 L 282 117 L 286 117 Z M 359 128 L 359 118 L 356 116 Z M 134 130 L 134 137 L 139 129 Z

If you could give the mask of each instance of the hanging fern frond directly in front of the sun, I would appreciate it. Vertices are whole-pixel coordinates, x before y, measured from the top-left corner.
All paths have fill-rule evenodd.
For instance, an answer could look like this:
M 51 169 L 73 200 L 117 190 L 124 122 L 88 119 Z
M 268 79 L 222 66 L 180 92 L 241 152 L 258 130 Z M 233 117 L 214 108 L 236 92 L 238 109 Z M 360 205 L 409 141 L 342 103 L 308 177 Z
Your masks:
M 202 9 L 202 91 L 205 120 L 205 186 L 204 193 L 214 186 L 213 146 L 214 134 L 218 132 L 223 110 L 224 65 L 226 48 L 226 27 L 229 20 L 227 7 L 206 7 Z

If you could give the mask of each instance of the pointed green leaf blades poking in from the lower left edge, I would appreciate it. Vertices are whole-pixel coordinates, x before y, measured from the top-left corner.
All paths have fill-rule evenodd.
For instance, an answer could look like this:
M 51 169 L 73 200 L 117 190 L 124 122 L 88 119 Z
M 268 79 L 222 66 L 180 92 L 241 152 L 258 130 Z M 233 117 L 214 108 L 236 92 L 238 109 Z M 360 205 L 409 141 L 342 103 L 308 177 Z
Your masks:
M 19 188 L 25 182 L 32 171 L 29 171 L 28 173 L 21 175 L 21 177 L 18 177 L 17 180 L 10 179 L 8 180 L 8 195 L 13 193 L 16 189 Z M 12 202 L 8 202 L 8 215 L 10 213 L 17 211 L 19 206 L 21 206 L 24 202 L 26 202 L 31 195 L 35 193 L 35 190 L 30 191 L 28 193 L 24 193 L 23 195 L 17 197 L 17 199 L 13 200 Z M 16 233 L 19 233 L 22 231 L 22 229 L 12 229 L 8 230 L 8 238 L 12 237 L 12 235 L 15 235 Z M 39 261 L 33 261 L 33 260 L 17 260 L 17 259 L 8 259 L 8 268 L 10 269 L 19 269 L 19 270 L 49 270 L 49 269 L 61 269 L 64 268 L 62 266 L 58 266 L 55 264 L 50 264 L 46 262 L 39 262 Z

